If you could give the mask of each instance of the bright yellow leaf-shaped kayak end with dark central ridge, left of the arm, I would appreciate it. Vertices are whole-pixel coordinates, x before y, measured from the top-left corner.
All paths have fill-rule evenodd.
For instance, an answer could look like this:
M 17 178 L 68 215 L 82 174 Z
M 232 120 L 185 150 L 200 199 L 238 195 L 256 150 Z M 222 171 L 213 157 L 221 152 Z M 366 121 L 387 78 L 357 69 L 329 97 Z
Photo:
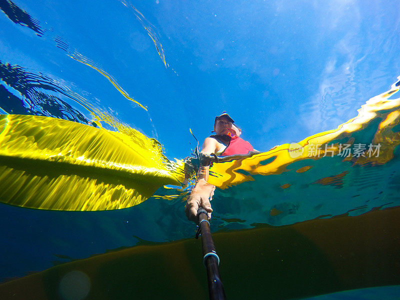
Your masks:
M 179 184 L 157 142 L 33 115 L 0 116 L 0 201 L 56 210 L 104 210 Z

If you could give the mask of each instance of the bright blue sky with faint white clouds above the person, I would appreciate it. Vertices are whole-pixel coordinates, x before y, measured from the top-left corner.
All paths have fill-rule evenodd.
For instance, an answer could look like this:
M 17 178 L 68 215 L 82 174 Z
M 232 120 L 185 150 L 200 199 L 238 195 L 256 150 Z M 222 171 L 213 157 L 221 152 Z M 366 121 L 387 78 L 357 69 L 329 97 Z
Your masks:
M 15 3 L 45 32 L 37 36 L 2 13 L 0 60 L 46 74 L 157 138 L 170 158 L 187 156 L 189 128 L 202 140 L 223 110 L 258 150 L 334 128 L 400 73 L 397 1 Z M 130 4 L 158 38 L 167 66 Z

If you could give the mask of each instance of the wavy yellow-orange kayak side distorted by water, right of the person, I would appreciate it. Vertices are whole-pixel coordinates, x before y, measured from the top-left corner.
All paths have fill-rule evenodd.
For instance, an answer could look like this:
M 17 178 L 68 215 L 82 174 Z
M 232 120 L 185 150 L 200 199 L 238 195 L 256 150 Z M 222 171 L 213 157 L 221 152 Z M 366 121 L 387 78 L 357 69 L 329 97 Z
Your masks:
M 352 161 L 354 164 L 386 163 L 393 158 L 393 151 L 400 144 L 397 126 L 400 123 L 400 98 L 389 99 L 398 92 L 400 88 L 398 82 L 392 84 L 390 90 L 366 101 L 358 109 L 356 117 L 340 124 L 336 129 L 316 133 L 298 143 L 282 144 L 273 150 L 248 158 L 213 164 L 210 167 L 211 176 L 208 177 L 208 182 L 220 188 L 227 188 L 244 181 L 254 180 L 252 175 L 280 174 L 289 169 L 291 163 L 299 160 L 337 155 L 340 151 L 338 140 L 346 140 L 346 143 L 351 145 L 363 142 L 354 139 L 354 133 L 376 122 L 375 132 L 372 132 L 373 138 L 369 139 L 365 146 L 368 147 L 369 143 L 371 146 L 379 145 L 379 155 L 370 157 L 361 155 L 356 159 L 346 157 L 344 160 Z M 320 150 L 316 151 L 318 147 Z M 298 172 L 307 171 L 309 168 L 310 166 L 306 166 Z

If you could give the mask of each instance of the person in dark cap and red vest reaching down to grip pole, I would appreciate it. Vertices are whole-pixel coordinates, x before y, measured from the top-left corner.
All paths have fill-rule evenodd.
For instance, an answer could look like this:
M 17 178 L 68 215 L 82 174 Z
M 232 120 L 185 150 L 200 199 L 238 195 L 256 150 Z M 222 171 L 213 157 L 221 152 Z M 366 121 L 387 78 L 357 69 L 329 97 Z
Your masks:
M 240 137 L 240 128 L 234 124 L 234 120 L 226 112 L 215 117 L 214 132 L 215 135 L 205 138 L 201 153 L 226 156 L 247 154 L 249 151 L 254 151 L 251 144 Z M 186 216 L 194 222 L 197 222 L 198 207 L 203 207 L 208 212 L 208 219 L 211 218 L 210 199 L 214 194 L 215 186 L 207 183 L 208 168 L 209 166 L 201 167 L 196 185 L 187 198 Z

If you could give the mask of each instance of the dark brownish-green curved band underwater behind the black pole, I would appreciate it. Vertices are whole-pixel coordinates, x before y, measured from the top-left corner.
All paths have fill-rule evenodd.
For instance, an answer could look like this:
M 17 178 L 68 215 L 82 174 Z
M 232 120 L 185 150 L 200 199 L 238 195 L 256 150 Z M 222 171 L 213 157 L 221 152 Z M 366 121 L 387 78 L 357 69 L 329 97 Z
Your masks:
M 399 213 L 214 233 L 226 298 L 293 299 L 400 284 Z M 197 252 L 193 238 L 58 264 L 0 284 L 1 299 L 206 299 Z

